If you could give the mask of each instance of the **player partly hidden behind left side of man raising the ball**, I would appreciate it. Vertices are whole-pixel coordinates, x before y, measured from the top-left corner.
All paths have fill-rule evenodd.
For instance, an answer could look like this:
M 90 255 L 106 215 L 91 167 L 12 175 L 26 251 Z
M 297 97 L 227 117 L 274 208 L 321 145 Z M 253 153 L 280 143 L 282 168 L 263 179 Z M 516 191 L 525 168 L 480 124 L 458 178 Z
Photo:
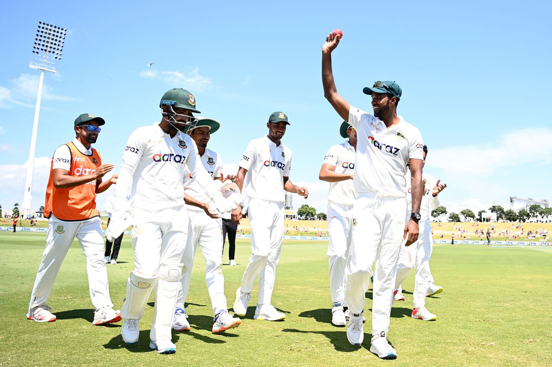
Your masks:
M 346 138 L 342 144 L 332 145 L 320 169 L 319 180 L 330 182 L 328 192 L 328 261 L 330 263 L 330 294 L 332 296 L 332 323 L 344 326 L 347 323 L 347 300 L 345 299 L 346 261 L 351 245 L 353 204 L 356 198 L 353 188 L 357 132 L 343 121 L 339 134 Z

